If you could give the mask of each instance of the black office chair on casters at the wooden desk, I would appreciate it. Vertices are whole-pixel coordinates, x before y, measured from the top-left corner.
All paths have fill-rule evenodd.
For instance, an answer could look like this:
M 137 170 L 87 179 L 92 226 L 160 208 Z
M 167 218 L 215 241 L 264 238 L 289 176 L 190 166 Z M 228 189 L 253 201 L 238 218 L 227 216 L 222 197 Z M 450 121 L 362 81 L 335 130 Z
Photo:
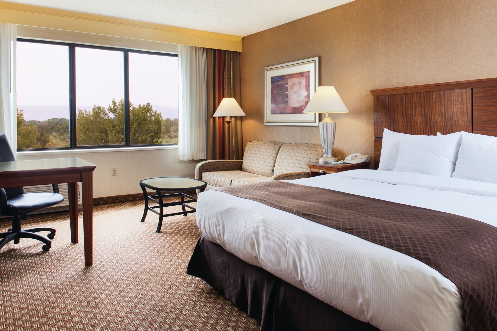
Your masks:
M 10 149 L 5 134 L 0 134 L 0 162 L 15 161 L 14 154 Z M 42 249 L 48 251 L 52 247 L 52 240 L 55 237 L 55 229 L 52 228 L 29 228 L 21 229 L 21 219 L 26 220 L 27 214 L 46 207 L 53 206 L 64 201 L 64 197 L 59 194 L 59 186 L 52 185 L 54 193 L 26 193 L 24 188 L 6 188 L 0 189 L 0 215 L 13 216 L 12 228 L 7 232 L 0 233 L 0 249 L 6 243 L 14 241 L 19 243 L 20 238 L 36 239 L 44 243 Z M 47 237 L 35 232 L 49 231 Z

